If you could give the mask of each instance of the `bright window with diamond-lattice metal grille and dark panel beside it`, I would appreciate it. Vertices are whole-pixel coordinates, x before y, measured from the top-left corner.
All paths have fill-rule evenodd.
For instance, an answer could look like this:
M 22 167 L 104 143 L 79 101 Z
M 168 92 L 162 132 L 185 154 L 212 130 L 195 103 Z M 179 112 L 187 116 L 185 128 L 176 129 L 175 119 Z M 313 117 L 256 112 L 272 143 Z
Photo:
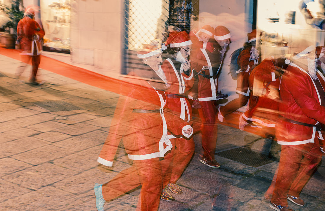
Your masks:
M 124 0 L 124 67 L 149 70 L 136 56 L 136 50 L 156 45 L 178 28 L 189 32 L 199 14 L 199 0 Z M 164 54 L 163 57 L 168 57 Z

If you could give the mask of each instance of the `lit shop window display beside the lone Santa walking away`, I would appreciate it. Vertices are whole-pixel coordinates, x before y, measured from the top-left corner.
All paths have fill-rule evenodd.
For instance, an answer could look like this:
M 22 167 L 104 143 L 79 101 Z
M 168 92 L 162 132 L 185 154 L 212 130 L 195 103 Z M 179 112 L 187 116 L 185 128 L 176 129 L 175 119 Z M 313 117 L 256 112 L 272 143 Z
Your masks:
M 70 0 L 41 1 L 44 50 L 70 53 Z

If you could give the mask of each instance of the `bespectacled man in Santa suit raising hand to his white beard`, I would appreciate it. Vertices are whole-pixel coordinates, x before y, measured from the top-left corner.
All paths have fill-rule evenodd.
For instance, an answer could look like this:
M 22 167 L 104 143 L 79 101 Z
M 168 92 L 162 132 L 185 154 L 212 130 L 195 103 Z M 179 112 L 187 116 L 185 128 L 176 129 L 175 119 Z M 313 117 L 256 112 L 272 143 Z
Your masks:
M 189 89 L 194 84 L 193 71 L 190 68 L 188 56 L 191 54 L 192 42 L 186 32 L 170 32 L 164 47 L 169 46 L 173 52 L 173 58 L 168 58 L 162 62 L 162 70 L 168 81 L 167 108 L 170 109 L 175 117 L 192 125 L 192 109 L 186 98 Z M 166 48 L 164 48 L 166 49 Z M 170 174 L 170 183 L 162 191 L 162 199 L 168 201 L 175 200 L 172 193 L 181 194 L 182 190 L 176 184 L 184 172 L 186 166 L 194 153 L 193 137 L 177 136 L 168 128 L 169 138 L 175 146 L 174 154 L 168 154 L 165 160 L 173 160 L 173 168 Z M 191 132 L 192 135 L 193 131 Z

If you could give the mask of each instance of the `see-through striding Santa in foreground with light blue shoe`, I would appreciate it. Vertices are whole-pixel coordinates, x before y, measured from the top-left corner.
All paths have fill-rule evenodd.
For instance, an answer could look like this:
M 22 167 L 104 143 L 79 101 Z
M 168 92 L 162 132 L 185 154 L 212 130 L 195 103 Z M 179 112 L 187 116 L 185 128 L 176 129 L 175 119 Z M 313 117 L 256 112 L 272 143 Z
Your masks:
M 139 51 L 138 57 L 143 59 L 160 77 L 162 70 L 160 62 L 162 50 Z M 134 71 L 129 75 L 135 78 L 146 78 L 147 71 Z M 106 184 L 95 184 L 96 207 L 104 210 L 104 204 L 110 200 L 142 185 L 137 210 L 158 210 L 164 174 L 170 172 L 170 164 L 160 158 L 167 153 L 173 153 L 173 145 L 168 138 L 167 128 L 176 136 L 189 136 L 192 133 L 190 124 L 166 108 L 166 94 L 156 89 L 146 80 L 135 79 L 124 83 L 121 91 L 127 90 L 126 96 L 121 96 L 111 121 L 110 132 L 99 154 L 98 162 L 112 166 L 115 153 L 121 138 L 128 157 L 133 160 L 133 166 L 121 171 Z M 164 81 L 164 78 L 161 78 Z M 163 83 L 164 84 L 164 83 Z M 166 112 L 165 112 L 166 111 Z

